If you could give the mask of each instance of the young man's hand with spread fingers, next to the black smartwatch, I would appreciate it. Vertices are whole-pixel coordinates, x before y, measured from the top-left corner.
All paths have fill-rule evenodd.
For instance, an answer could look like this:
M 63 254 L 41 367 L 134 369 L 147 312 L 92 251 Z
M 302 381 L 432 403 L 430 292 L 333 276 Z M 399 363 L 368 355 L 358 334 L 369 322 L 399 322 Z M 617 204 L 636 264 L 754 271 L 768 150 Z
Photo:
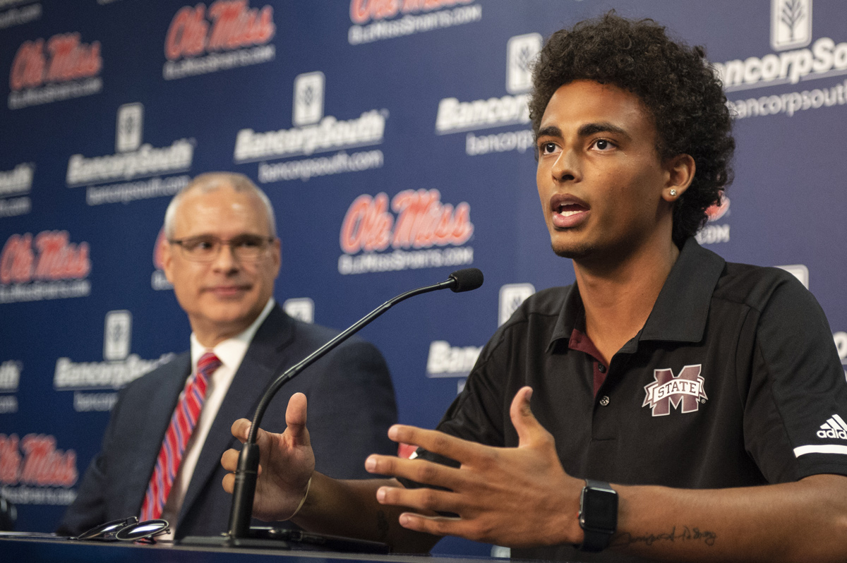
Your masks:
M 512 400 L 510 416 L 520 439 L 517 448 L 493 448 L 435 430 L 391 427 L 390 439 L 445 455 L 462 466 L 371 455 L 365 464 L 368 472 L 450 489 L 382 487 L 377 492 L 379 503 L 458 515 L 403 512 L 401 526 L 418 532 L 511 547 L 579 543 L 582 530 L 577 516 L 583 482 L 562 469 L 553 437 L 529 409 L 531 395 L 532 389 L 524 387 Z

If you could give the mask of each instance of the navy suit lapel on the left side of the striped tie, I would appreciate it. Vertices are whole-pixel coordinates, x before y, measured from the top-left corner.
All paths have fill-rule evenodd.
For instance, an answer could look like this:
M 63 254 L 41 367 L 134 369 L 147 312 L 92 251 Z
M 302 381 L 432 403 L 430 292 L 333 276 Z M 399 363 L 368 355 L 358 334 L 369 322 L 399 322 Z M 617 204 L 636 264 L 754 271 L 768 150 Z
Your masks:
M 156 465 L 158 452 L 162 449 L 164 434 L 168 430 L 170 418 L 174 414 L 185 379 L 191 373 L 191 353 L 185 352 L 172 362 L 159 368 L 158 373 L 143 382 L 144 392 L 149 393 L 146 403 L 146 416 L 140 417 L 137 427 L 137 455 L 135 466 L 127 472 L 124 499 L 127 502 L 126 514 L 139 514 L 147 485 L 150 483 L 153 466 Z M 128 437 L 129 438 L 129 437 Z

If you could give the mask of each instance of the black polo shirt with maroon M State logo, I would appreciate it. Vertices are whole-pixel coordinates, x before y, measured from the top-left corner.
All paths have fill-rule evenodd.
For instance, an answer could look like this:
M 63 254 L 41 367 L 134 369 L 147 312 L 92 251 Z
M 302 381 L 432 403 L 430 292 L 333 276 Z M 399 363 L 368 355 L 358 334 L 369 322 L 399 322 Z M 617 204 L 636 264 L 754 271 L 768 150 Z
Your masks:
M 724 262 L 689 239 L 644 328 L 607 367 L 591 350 L 575 284 L 532 295 L 438 429 L 517 446 L 509 406 L 529 385 L 573 477 L 727 488 L 847 475 L 844 369 L 821 307 L 781 269 Z

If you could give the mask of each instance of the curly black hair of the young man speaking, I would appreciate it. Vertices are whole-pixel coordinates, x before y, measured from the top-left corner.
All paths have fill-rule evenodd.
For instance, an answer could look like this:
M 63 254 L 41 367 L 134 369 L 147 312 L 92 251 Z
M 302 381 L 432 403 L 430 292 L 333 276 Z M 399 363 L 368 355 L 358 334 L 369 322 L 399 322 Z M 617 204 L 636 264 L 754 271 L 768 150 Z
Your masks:
M 573 80 L 595 80 L 634 93 L 656 124 L 662 160 L 689 154 L 695 178 L 673 208 L 673 242 L 682 246 L 706 224 L 706 209 L 732 182 L 732 119 L 720 81 L 703 47 L 672 41 L 652 19 L 609 12 L 545 43 L 533 69 L 529 116 L 538 133 L 553 93 Z

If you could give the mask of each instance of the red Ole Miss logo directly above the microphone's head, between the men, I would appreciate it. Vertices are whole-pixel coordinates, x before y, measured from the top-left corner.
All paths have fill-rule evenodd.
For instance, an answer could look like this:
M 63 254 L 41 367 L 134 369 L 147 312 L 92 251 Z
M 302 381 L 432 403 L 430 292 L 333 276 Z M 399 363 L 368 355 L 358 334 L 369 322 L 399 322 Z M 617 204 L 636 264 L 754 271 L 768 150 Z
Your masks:
M 462 246 L 473 235 L 470 213 L 467 201 L 453 207 L 443 203 L 435 189 L 403 190 L 390 204 L 385 192 L 358 196 L 341 224 L 344 254 L 338 259 L 338 271 L 387 272 L 471 264 L 473 248 Z M 460 248 L 440 248 L 444 246 Z

